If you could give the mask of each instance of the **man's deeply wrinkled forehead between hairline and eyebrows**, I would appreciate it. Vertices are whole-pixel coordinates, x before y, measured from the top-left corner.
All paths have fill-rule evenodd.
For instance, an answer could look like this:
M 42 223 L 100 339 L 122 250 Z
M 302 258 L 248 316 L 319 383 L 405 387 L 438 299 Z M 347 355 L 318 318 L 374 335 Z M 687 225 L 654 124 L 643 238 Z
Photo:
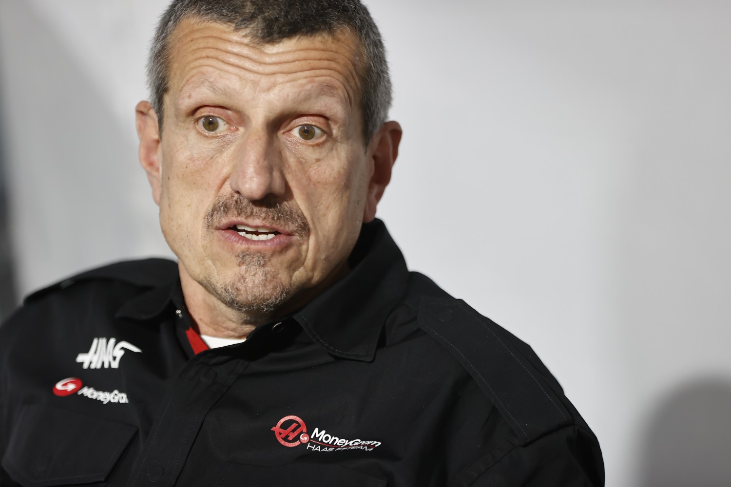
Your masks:
M 217 80 L 255 82 L 257 88 L 316 81 L 321 91 L 357 99 L 357 39 L 349 32 L 265 44 L 223 23 L 183 19 L 169 42 L 168 93 L 200 86 L 216 91 Z

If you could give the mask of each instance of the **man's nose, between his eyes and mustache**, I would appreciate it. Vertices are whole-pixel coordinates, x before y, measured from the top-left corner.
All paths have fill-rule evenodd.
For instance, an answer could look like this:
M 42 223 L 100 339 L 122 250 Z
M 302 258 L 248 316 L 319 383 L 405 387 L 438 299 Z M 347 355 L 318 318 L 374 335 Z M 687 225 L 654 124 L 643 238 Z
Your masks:
M 276 140 L 264 130 L 249 129 L 235 146 L 229 183 L 231 189 L 251 202 L 286 191 L 281 152 Z

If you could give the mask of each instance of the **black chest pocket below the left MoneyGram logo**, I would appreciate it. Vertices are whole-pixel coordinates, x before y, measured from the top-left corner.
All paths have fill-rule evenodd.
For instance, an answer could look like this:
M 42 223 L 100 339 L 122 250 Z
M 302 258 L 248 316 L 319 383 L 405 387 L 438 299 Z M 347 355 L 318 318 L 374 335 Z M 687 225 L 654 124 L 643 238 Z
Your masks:
M 2 466 L 27 487 L 103 482 L 136 431 L 48 404 L 30 404 L 20 411 Z

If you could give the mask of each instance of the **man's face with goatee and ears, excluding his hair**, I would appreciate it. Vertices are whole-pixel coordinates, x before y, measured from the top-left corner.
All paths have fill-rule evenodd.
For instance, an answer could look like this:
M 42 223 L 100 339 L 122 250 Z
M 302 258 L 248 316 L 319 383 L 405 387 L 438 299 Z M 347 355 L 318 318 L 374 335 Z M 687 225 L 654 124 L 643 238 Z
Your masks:
M 257 45 L 183 20 L 171 45 L 162 137 L 145 102 L 137 123 L 183 289 L 239 311 L 298 307 L 347 271 L 393 164 L 385 175 L 378 134 L 363 142 L 355 40 Z

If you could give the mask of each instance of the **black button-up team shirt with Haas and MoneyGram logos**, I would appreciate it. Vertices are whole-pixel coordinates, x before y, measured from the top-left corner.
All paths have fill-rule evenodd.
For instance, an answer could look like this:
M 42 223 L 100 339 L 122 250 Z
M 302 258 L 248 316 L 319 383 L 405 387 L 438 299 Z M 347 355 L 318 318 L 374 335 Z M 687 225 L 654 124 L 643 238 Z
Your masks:
M 37 450 L 71 459 L 54 465 L 74 485 L 603 485 L 596 438 L 527 345 L 408 272 L 379 221 L 349 264 L 198 355 L 173 262 L 34 294 L 0 327 L 0 485 L 69 485 Z

